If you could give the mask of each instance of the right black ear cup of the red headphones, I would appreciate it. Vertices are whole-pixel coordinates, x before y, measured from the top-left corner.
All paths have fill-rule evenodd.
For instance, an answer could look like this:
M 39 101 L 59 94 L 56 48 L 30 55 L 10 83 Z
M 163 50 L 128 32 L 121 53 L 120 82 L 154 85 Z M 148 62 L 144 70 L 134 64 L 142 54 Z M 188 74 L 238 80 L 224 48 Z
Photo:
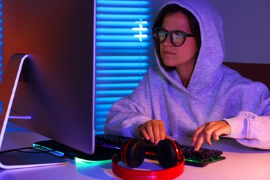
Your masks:
M 181 149 L 179 144 L 168 138 L 159 141 L 156 156 L 162 168 L 172 168 L 181 160 Z

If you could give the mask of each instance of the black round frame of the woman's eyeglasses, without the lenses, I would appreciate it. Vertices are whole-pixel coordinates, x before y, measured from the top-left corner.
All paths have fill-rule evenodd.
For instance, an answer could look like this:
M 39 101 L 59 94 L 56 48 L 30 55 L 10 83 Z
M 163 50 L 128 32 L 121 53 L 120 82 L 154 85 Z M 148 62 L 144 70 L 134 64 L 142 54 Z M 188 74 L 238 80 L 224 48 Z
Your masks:
M 154 33 L 154 32 L 156 31 L 156 29 L 161 29 L 161 30 L 164 31 L 164 33 L 165 33 L 165 38 L 164 38 L 163 41 L 160 41 L 159 33 Z M 168 34 L 169 34 L 170 42 L 172 43 L 173 46 L 177 46 L 177 45 L 175 45 L 175 44 L 173 43 L 173 37 L 172 37 L 172 33 L 176 33 L 176 32 L 177 32 L 177 33 L 183 34 L 183 43 L 180 44 L 179 46 L 182 46 L 182 45 L 186 42 L 186 37 L 195 37 L 195 35 L 193 35 L 193 34 L 188 34 L 188 33 L 186 33 L 186 32 L 183 32 L 183 30 L 172 30 L 172 31 L 167 31 L 167 30 L 165 30 L 164 28 L 161 28 L 161 27 L 157 27 L 157 28 L 154 28 L 154 29 L 153 29 L 153 36 L 154 36 L 154 39 L 155 39 L 155 40 L 156 40 L 156 39 L 159 40 L 159 43 L 163 43 L 163 42 L 165 42 L 165 40 L 167 39 Z M 157 34 L 157 36 L 155 36 L 155 34 Z M 179 47 L 179 46 L 177 46 L 177 47 Z

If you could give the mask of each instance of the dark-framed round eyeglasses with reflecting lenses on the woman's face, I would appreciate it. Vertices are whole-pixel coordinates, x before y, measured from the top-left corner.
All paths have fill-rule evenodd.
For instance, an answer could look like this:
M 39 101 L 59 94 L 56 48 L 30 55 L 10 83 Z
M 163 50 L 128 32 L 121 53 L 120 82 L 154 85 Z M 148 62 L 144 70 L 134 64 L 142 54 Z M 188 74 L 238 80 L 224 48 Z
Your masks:
M 154 28 L 153 35 L 156 42 L 163 43 L 167 38 L 168 34 L 170 35 L 170 42 L 174 46 L 182 46 L 183 43 L 186 41 L 186 37 L 194 37 L 195 35 L 191 35 L 185 33 L 181 30 L 172 30 L 169 32 L 163 28 Z

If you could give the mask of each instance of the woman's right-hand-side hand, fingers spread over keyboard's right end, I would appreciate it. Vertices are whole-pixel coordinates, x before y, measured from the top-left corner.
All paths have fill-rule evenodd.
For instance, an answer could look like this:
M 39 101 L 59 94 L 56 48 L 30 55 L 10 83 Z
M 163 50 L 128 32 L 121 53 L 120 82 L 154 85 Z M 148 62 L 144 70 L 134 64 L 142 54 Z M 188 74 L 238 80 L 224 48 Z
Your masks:
M 192 137 L 192 145 L 194 150 L 199 150 L 201 145 L 206 141 L 208 145 L 211 145 L 211 137 L 213 140 L 218 141 L 220 135 L 227 135 L 231 133 L 231 127 L 226 121 L 208 122 L 199 127 Z

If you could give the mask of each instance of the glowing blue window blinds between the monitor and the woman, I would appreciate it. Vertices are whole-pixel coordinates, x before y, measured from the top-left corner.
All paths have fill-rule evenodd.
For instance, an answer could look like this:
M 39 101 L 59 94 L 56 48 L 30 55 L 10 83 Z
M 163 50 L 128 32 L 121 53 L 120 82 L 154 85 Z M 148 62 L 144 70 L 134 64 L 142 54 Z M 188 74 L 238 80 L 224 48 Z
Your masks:
M 154 2 L 154 1 L 153 1 Z M 111 105 L 128 96 L 154 65 L 150 1 L 96 1 L 96 133 Z

